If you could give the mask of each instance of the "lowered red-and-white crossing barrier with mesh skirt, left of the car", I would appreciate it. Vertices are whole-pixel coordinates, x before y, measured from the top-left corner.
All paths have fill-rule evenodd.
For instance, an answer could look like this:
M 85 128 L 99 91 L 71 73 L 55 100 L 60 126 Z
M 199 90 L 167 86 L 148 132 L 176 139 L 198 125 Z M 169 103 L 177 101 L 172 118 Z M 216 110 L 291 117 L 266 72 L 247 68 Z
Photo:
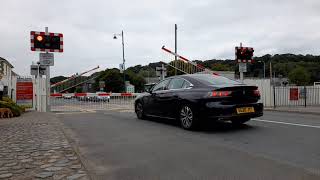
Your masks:
M 51 111 L 81 111 L 90 112 L 96 110 L 120 110 L 132 111 L 134 100 L 139 93 L 76 93 L 51 95 Z

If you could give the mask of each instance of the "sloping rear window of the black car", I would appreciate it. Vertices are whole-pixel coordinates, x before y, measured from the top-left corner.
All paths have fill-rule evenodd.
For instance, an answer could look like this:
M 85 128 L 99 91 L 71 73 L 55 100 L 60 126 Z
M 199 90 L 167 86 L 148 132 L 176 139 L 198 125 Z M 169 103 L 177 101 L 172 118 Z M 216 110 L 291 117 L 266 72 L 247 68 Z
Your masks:
M 206 85 L 241 84 L 238 81 L 235 81 L 223 76 L 217 76 L 217 75 L 211 75 L 211 74 L 199 74 L 199 75 L 193 75 L 192 77 Z

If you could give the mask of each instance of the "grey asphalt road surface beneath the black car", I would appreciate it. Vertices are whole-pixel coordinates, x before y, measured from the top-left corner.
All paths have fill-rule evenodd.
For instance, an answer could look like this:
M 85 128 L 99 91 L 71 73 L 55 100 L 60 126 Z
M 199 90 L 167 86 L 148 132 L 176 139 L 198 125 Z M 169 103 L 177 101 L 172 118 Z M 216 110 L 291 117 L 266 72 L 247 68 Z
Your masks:
M 320 116 L 265 112 L 194 132 L 128 112 L 59 117 L 96 179 L 320 179 Z

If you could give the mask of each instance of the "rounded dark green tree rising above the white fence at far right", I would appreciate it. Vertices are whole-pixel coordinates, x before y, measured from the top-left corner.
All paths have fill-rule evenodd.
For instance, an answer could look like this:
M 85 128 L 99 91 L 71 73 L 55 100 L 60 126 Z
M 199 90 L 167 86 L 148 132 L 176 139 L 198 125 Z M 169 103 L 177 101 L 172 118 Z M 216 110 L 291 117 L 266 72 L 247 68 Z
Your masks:
M 298 86 L 308 85 L 310 83 L 310 73 L 302 66 L 298 66 L 289 73 L 289 81 Z

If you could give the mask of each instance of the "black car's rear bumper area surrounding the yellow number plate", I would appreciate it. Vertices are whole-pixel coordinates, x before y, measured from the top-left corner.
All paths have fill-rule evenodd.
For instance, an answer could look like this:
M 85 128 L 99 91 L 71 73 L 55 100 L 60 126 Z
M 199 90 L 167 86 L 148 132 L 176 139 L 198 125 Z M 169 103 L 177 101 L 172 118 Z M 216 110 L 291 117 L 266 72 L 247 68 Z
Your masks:
M 254 112 L 237 113 L 237 108 L 253 107 Z M 224 105 L 220 102 L 207 102 L 204 107 L 200 109 L 199 115 L 201 118 L 215 119 L 215 120 L 232 120 L 239 118 L 255 118 L 263 115 L 262 103 L 247 103 L 247 104 L 233 104 Z

